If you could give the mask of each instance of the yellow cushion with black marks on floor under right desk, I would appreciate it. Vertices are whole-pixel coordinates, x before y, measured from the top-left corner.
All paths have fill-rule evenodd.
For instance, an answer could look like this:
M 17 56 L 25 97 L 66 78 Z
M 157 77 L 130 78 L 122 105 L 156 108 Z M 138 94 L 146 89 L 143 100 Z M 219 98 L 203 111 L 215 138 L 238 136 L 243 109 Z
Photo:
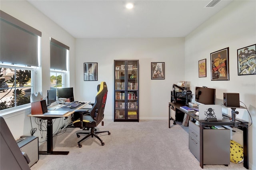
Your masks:
M 230 140 L 230 161 L 234 163 L 244 161 L 244 148 L 234 140 Z

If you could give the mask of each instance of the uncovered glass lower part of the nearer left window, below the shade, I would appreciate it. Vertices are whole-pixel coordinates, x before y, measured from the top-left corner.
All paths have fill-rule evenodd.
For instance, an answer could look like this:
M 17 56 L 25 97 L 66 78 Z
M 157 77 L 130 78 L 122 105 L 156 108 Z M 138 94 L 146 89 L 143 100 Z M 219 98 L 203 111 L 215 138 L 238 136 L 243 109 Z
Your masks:
M 33 67 L 0 65 L 0 110 L 30 103 L 34 70 Z

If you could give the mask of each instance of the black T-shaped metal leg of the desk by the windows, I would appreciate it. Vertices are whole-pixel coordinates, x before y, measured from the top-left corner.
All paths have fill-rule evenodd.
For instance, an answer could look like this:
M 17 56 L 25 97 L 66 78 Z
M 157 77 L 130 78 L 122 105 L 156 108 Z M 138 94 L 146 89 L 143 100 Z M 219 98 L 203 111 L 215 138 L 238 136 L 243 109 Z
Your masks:
M 53 151 L 52 119 L 47 120 L 47 151 L 39 151 L 39 154 L 67 155 L 69 151 Z

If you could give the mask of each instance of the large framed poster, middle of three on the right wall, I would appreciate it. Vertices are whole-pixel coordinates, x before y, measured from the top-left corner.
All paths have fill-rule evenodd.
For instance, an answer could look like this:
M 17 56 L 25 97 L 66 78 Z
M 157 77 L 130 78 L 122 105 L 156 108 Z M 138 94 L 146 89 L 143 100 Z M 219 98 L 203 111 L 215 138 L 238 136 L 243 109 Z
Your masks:
M 211 53 L 211 80 L 229 80 L 229 47 Z

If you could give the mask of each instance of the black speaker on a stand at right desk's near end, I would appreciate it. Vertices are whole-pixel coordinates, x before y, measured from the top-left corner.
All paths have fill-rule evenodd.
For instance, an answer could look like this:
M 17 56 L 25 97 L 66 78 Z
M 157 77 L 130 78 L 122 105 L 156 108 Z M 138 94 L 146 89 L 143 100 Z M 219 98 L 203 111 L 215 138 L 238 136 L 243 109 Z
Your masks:
M 226 107 L 240 107 L 239 93 L 223 93 L 223 102 Z

